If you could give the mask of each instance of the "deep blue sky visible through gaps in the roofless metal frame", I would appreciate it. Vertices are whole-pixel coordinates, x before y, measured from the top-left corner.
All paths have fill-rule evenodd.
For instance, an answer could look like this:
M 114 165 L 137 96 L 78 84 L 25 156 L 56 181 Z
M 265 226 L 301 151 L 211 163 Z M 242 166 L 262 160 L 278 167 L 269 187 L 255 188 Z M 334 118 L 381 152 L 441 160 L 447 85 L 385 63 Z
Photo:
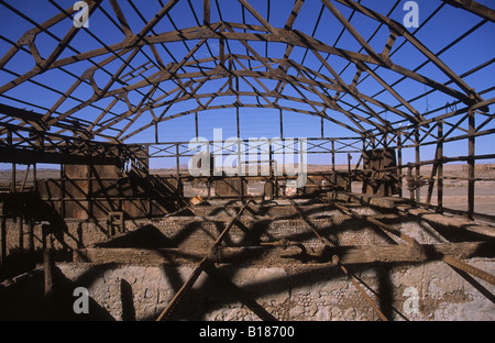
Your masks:
M 10 0 L 6 1 L 11 7 L 14 7 L 20 12 L 24 13 L 26 16 L 36 22 L 44 22 L 45 20 L 52 18 L 59 10 L 48 1 L 24 1 L 24 0 Z M 138 3 L 138 1 L 135 1 Z M 219 0 L 221 4 L 221 16 L 224 21 L 229 22 L 242 22 L 242 11 L 241 7 L 237 1 L 226 1 Z M 402 22 L 404 15 L 407 13 L 403 5 L 406 1 L 400 1 L 395 10 L 392 12 L 391 18 Z M 442 1 L 431 1 L 431 0 L 417 0 L 419 5 L 419 23 L 422 24 L 424 21 L 431 14 L 432 11 L 438 9 Z M 493 1 L 484 0 L 479 1 L 486 5 L 493 7 Z M 64 8 L 69 8 L 74 1 L 65 0 L 57 1 L 57 3 Z M 122 11 L 127 14 L 129 20 L 129 24 L 133 32 L 139 32 L 144 25 L 144 21 L 150 20 L 157 10 L 162 7 L 158 1 L 140 1 L 139 10 L 143 18 L 140 18 L 136 14 L 131 14 L 132 5 L 129 1 L 119 1 L 121 4 Z M 133 3 L 133 2 L 132 2 Z M 145 3 L 145 5 L 143 5 Z M 197 13 L 198 20 L 202 19 L 202 1 L 191 1 L 195 11 Z M 266 5 L 266 1 L 256 1 L 251 0 L 250 3 L 263 15 L 268 16 L 268 9 Z M 361 3 L 363 5 L 369 5 L 373 8 L 375 11 L 386 14 L 395 1 L 376 1 L 376 0 L 362 0 Z M 290 4 L 290 5 L 288 5 Z M 336 4 L 338 9 L 342 12 L 342 14 L 349 18 L 351 10 Z M 103 9 L 107 10 L 108 13 L 114 14 L 111 10 L 108 1 L 103 1 Z M 287 20 L 289 12 L 292 10 L 292 1 L 286 0 L 272 0 L 270 8 L 270 22 L 275 27 L 283 27 L 285 21 Z M 294 29 L 305 32 L 307 34 L 315 33 L 315 37 L 324 42 L 329 45 L 336 44 L 337 47 L 350 49 L 350 51 L 359 51 L 361 48 L 360 44 L 352 37 L 352 35 L 344 31 L 342 33 L 342 25 L 332 18 L 331 13 L 324 9 L 321 15 L 321 20 L 319 21 L 318 29 L 315 30 L 315 24 L 318 18 L 318 14 L 321 10 L 321 1 L 318 0 L 306 0 L 305 4 L 294 24 Z M 254 25 L 260 25 L 257 20 L 251 15 L 248 11 L 245 11 L 245 21 L 246 23 L 251 23 Z M 189 4 L 187 1 L 180 1 L 172 11 L 170 16 L 174 20 L 174 23 L 168 19 L 164 18 L 156 26 L 155 33 L 168 32 L 178 29 L 186 29 L 190 26 L 196 26 L 196 18 L 193 15 L 190 11 Z M 144 19 L 144 21 L 143 21 Z M 215 1 L 212 1 L 211 9 L 211 22 L 216 22 L 220 20 L 220 14 L 217 10 Z M 461 9 L 453 8 L 448 4 L 443 4 L 438 13 L 435 15 L 433 20 L 426 23 L 419 30 L 410 29 L 410 32 L 415 33 L 415 36 L 422 42 L 431 52 L 438 53 L 441 52 L 449 42 L 458 38 L 464 32 L 472 29 L 476 24 L 481 22 L 481 19 L 472 13 L 463 11 Z M 367 40 L 372 33 L 378 27 L 378 23 L 364 16 L 363 14 L 355 13 L 351 23 L 354 27 L 363 35 L 365 40 Z M 72 21 L 69 19 L 62 21 L 59 24 L 54 25 L 50 29 L 50 31 L 57 37 L 63 37 L 67 30 L 69 30 L 72 25 Z M 8 5 L 0 4 L 0 56 L 3 56 L 4 53 L 10 48 L 10 44 L 8 41 L 15 42 L 25 31 L 32 29 L 32 23 L 20 18 L 14 12 L 12 12 Z M 341 34 L 342 33 L 342 34 Z M 495 56 L 495 24 L 494 23 L 485 23 L 481 25 L 479 30 L 474 33 L 470 34 L 464 40 L 460 41 L 454 47 L 446 51 L 439 57 L 458 75 L 462 75 L 463 73 L 472 69 L 473 67 L 485 63 Z M 384 43 L 388 37 L 388 30 L 382 26 L 376 35 L 370 41 L 370 45 L 381 52 L 383 49 Z M 90 51 L 94 48 L 101 47 L 101 42 L 105 44 L 114 44 L 119 43 L 124 38 L 124 35 L 121 31 L 119 31 L 116 26 L 109 24 L 108 18 L 106 18 L 105 13 L 101 11 L 95 12 L 89 20 L 89 29 L 87 31 L 81 31 L 78 35 L 73 40 L 72 46 L 79 52 Z M 398 37 L 394 48 L 392 49 L 392 59 L 394 63 L 415 69 L 421 63 L 424 63 L 427 58 L 414 48 L 410 44 L 404 44 L 399 49 L 398 46 L 404 42 L 404 38 Z M 175 56 L 184 56 L 187 54 L 188 49 L 195 46 L 196 41 L 189 41 L 184 44 L 183 42 L 167 44 L 167 48 L 174 52 Z M 42 56 L 47 56 L 52 49 L 56 46 L 57 42 L 53 37 L 43 34 L 36 37 L 36 46 L 40 49 L 40 54 Z M 229 47 L 232 51 L 239 51 L 240 43 L 231 42 L 229 43 Z M 267 53 L 268 56 L 280 58 L 285 52 L 286 46 L 284 44 L 270 44 L 268 51 L 265 52 L 265 44 L 260 42 L 250 42 L 250 45 L 260 52 L 261 55 L 265 55 Z M 218 42 L 209 42 L 209 47 L 213 54 L 218 53 Z M 243 47 L 242 47 L 243 48 Z M 245 49 L 244 49 L 245 51 Z M 152 53 L 148 47 L 143 48 L 143 53 L 152 56 Z M 163 59 L 166 63 L 173 62 L 170 56 L 166 54 L 165 51 L 160 51 Z M 363 53 L 365 53 L 363 51 Z M 68 57 L 74 55 L 75 52 L 70 49 L 66 49 L 59 58 Z M 125 58 L 127 55 L 124 55 Z M 197 58 L 209 56 L 208 49 L 206 46 L 202 46 L 197 54 L 195 55 Z M 102 60 L 107 56 L 101 56 L 95 58 L 95 62 Z M 302 63 L 305 66 L 318 70 L 319 62 L 314 54 L 308 53 L 306 49 L 301 47 L 295 47 L 290 55 L 290 58 Z M 341 73 L 341 77 L 348 84 L 351 82 L 354 74 L 355 67 L 353 65 L 346 66 L 346 60 L 340 57 L 331 56 L 329 59 L 330 65 L 339 73 Z M 139 54 L 133 59 L 134 66 L 140 66 L 146 63 L 146 58 L 144 55 Z M 99 85 L 105 85 L 106 81 L 111 77 L 111 73 L 116 71 L 121 62 L 111 63 L 106 68 L 109 73 L 97 71 L 95 74 L 95 79 Z M 6 65 L 6 68 L 9 70 L 0 70 L 0 84 L 3 85 L 7 81 L 11 80 L 15 74 L 23 74 L 32 69 L 34 66 L 33 57 L 28 53 L 18 53 L 15 58 L 9 62 Z M 62 73 L 59 70 L 50 70 L 48 73 L 36 76 L 33 80 L 40 84 L 50 85 L 55 90 L 59 92 L 64 92 L 66 89 L 70 87 L 74 82 L 74 78 L 68 75 L 73 73 L 74 75 L 80 76 L 81 73 L 90 67 L 91 64 L 88 62 L 76 63 L 73 65 L 68 65 L 65 69 L 68 73 Z M 123 74 L 125 74 L 125 70 Z M 130 71 L 130 70 L 129 70 Z M 429 63 L 422 68 L 417 70 L 419 74 L 428 76 L 435 80 L 440 82 L 448 81 L 448 77 L 439 70 L 433 64 Z M 322 69 L 322 74 L 329 75 L 328 70 Z M 110 75 L 109 75 L 110 74 Z M 385 70 L 384 68 L 380 68 L 380 75 L 382 78 L 388 84 L 393 84 L 400 78 L 400 75 Z M 490 87 L 493 87 L 493 75 L 495 75 L 495 64 L 491 64 L 482 71 L 474 73 L 471 76 L 465 77 L 465 81 L 469 86 L 475 88 L 476 91 L 482 91 Z M 250 80 L 253 85 L 254 81 Z M 217 91 L 221 84 L 224 80 L 208 82 L 201 88 L 201 91 Z M 276 82 L 265 82 L 267 87 L 273 87 Z M 255 85 L 256 86 L 256 85 Z M 382 88 L 378 86 L 375 80 L 371 77 L 367 77 L 364 81 L 360 82 L 358 88 L 362 93 L 367 96 L 374 96 Z M 455 85 L 449 85 L 453 89 L 459 89 Z M 116 86 L 117 87 L 117 86 Z M 165 90 L 170 89 L 173 86 L 164 85 L 163 88 Z M 242 86 L 241 86 L 242 87 Z M 248 87 L 248 85 L 243 85 L 243 87 Z M 426 86 L 416 82 L 406 80 L 394 86 L 394 89 L 399 92 L 406 100 L 413 99 L 418 95 L 424 93 L 429 90 Z M 298 97 L 297 91 L 287 88 L 285 90 L 286 95 Z M 77 99 L 88 99 L 92 95 L 92 89 L 89 85 L 82 85 L 76 89 L 73 93 L 74 98 Z M 308 98 L 314 97 L 311 95 L 307 95 Z M 0 101 L 7 104 L 16 106 L 21 108 L 26 108 L 30 110 L 34 110 L 41 113 L 46 112 L 46 109 L 50 109 L 53 103 L 55 103 L 59 93 L 54 91 L 48 91 L 38 87 L 36 84 L 24 82 L 14 89 L 7 91 L 4 95 L 0 96 Z M 494 91 L 487 92 L 482 96 L 484 99 L 490 99 L 494 97 Z M 13 98 L 19 98 L 24 100 L 28 103 L 20 103 L 18 101 L 13 101 Z M 216 100 L 218 104 L 231 103 L 234 99 L 233 97 L 224 97 L 223 99 Z M 316 97 L 310 98 L 314 100 L 318 100 Z M 389 93 L 382 92 L 376 95 L 376 100 L 391 103 L 393 106 L 398 104 L 398 101 L 394 99 Z M 129 99 L 132 103 L 138 103 L 140 101 L 139 95 L 130 95 Z M 355 101 L 345 96 L 342 100 L 348 101 L 353 104 Z M 81 110 L 77 117 L 80 118 L 81 122 L 92 121 L 96 119 L 101 109 L 105 109 L 111 99 L 102 99 L 96 103 L 95 107 L 87 107 Z M 453 98 L 446 96 L 441 92 L 432 92 L 426 98 L 418 99 L 413 101 L 411 104 L 420 112 L 425 113 L 429 110 L 436 109 L 438 107 L 444 106 L 446 102 L 452 102 Z M 245 100 L 245 102 L 250 102 Z M 255 100 L 251 100 L 250 103 L 255 103 Z M 280 103 L 288 103 L 280 101 Z M 31 104 L 35 104 L 31 106 Z M 64 112 L 69 110 L 70 108 L 78 104 L 76 99 L 67 99 L 64 103 L 58 108 L 58 112 Z M 184 101 L 180 103 L 174 104 L 169 114 L 180 113 L 182 111 L 190 110 L 191 107 L 197 106 L 194 100 Z M 459 107 L 461 107 L 460 104 Z M 458 107 L 458 108 L 459 108 Z M 375 108 L 374 108 L 375 109 Z M 116 113 L 127 111 L 127 106 L 124 103 L 118 104 L 112 110 Z M 404 108 L 402 108 L 404 110 Z M 491 108 L 493 112 L 493 106 Z M 438 114 L 443 114 L 444 111 L 440 111 Z M 267 136 L 273 137 L 279 134 L 278 129 L 278 110 L 271 109 L 252 109 L 252 108 L 241 108 L 240 109 L 240 121 L 241 121 L 241 137 L 249 139 L 250 136 Z M 344 123 L 349 123 L 349 120 L 339 112 L 331 112 L 332 118 L 336 120 L 342 121 Z M 385 119 L 391 119 L 395 121 L 395 117 L 392 113 L 383 113 Z M 217 110 L 217 111 L 202 111 L 199 112 L 199 134 L 207 139 L 212 136 L 213 129 L 223 129 L 224 136 L 235 135 L 235 109 L 226 109 L 226 110 Z M 132 132 L 133 128 L 140 128 L 142 125 L 148 124 L 151 121 L 151 115 L 142 115 L 139 118 L 130 131 Z M 480 118 L 480 121 L 484 121 L 484 118 Z M 121 122 L 117 124 L 116 128 L 125 126 L 127 122 Z M 158 125 L 158 134 L 160 140 L 163 142 L 170 141 L 189 141 L 195 135 L 195 125 L 194 125 L 194 115 L 185 115 L 178 119 L 169 120 L 163 122 Z M 462 128 L 466 128 L 466 123 L 461 125 Z M 485 129 L 494 128 L 493 123 L 490 123 L 485 126 Z M 324 121 L 323 125 L 324 136 L 354 136 L 355 134 L 344 128 L 331 123 L 329 121 Z M 112 132 L 109 131 L 107 134 L 111 135 Z M 314 115 L 302 115 L 294 112 L 284 112 L 284 135 L 287 137 L 318 137 L 320 136 L 320 119 Z M 153 142 L 155 136 L 154 129 L 143 131 L 140 134 L 131 137 L 129 143 L 135 142 Z M 487 137 L 476 139 L 476 154 L 490 154 L 493 153 L 493 135 Z M 414 158 L 413 150 L 405 151 L 405 158 L 410 159 Z M 446 144 L 444 147 L 446 155 L 458 156 L 461 154 L 465 154 L 468 152 L 468 142 L 462 141 L 458 143 Z M 421 150 L 422 158 L 429 159 L 429 155 L 432 155 L 432 147 L 425 147 Z M 318 157 L 321 158 L 321 157 Z M 315 159 L 310 159 L 309 162 L 318 163 L 319 159 L 315 157 Z M 345 161 L 345 156 L 342 156 L 342 159 Z M 356 161 L 356 158 L 354 159 Z

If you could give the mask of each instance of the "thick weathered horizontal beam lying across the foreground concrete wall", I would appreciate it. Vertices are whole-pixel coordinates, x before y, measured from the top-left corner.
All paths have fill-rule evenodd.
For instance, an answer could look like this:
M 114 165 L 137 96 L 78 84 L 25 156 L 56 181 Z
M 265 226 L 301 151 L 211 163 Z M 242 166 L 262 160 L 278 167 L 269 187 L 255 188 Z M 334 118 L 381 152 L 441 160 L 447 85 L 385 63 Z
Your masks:
M 306 256 L 297 246 L 289 246 L 285 250 L 267 246 L 218 247 L 215 262 L 273 266 L 277 264 L 332 264 L 333 255 L 338 255 L 343 264 L 417 263 L 441 261 L 443 256 L 460 259 L 495 257 L 494 244 L 488 242 L 422 244 L 421 247 L 425 255 L 417 254 L 417 251 L 410 245 L 355 245 L 327 246 L 324 248 L 317 246 Z M 87 247 L 76 250 L 74 261 L 96 264 L 187 265 L 197 264 L 209 252 L 209 250 L 197 248 Z

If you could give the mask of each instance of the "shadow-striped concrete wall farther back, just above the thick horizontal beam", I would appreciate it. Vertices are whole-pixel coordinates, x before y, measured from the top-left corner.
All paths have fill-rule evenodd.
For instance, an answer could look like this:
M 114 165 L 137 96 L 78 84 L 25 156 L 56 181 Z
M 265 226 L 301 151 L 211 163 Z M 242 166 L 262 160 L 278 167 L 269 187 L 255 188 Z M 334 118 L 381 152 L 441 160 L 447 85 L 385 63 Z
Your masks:
M 394 199 L 394 198 L 386 198 Z M 252 204 L 244 211 L 240 219 L 240 225 L 234 225 L 226 237 L 226 243 L 231 246 L 256 245 L 260 242 L 273 242 L 282 237 L 302 242 L 305 244 L 319 244 L 318 239 L 311 232 L 308 224 L 287 203 L 279 201 L 278 206 Z M 306 201 L 308 202 L 308 201 Z M 224 204 L 224 203 L 223 203 Z M 349 204 L 350 206 L 350 204 Z M 252 208 L 251 208 L 252 207 Z M 444 217 L 448 224 L 435 226 L 422 220 L 422 215 L 396 215 L 380 214 L 366 206 L 352 204 L 353 209 L 361 214 L 375 215 L 376 219 L 400 230 L 415 237 L 419 243 L 431 244 L 446 242 L 436 231 L 443 230 L 442 234 L 452 235 L 462 230 L 453 229 L 450 224 L 457 219 Z M 364 245 L 364 244 L 389 244 L 404 243 L 394 235 L 384 233 L 364 221 L 352 219 L 342 214 L 331 206 L 324 203 L 300 202 L 301 210 L 308 215 L 312 225 L 336 245 Z M 169 217 L 161 219 L 127 220 L 125 231 L 134 231 L 143 226 L 155 228 L 163 235 L 164 242 L 160 247 L 209 247 L 224 229 L 227 223 L 237 213 L 238 206 L 198 206 L 199 217 Z M 432 215 L 432 214 L 431 214 Z M 436 214 L 437 217 L 441 214 Z M 443 218 L 443 217 L 442 217 Z M 471 226 L 475 225 L 470 222 Z M 477 224 L 476 224 L 477 225 Z M 470 228 L 471 228 L 470 226 Z M 472 229 L 472 228 L 471 228 Z M 493 229 L 493 228 L 492 228 Z M 72 253 L 76 248 L 90 246 L 109 239 L 106 221 L 65 221 L 53 228 L 54 248 Z M 33 225 L 34 250 L 43 250 L 45 237 L 42 224 Z M 167 242 L 165 242 L 167 240 Z M 451 240 L 451 237 L 449 237 Z M 461 240 L 472 241 L 471 237 L 462 236 Z M 23 225 L 23 236 L 20 236 L 19 223 L 13 220 L 7 221 L 7 255 L 21 250 L 28 250 L 29 228 Z M 458 240 L 451 240 L 458 242 Z M 22 244 L 22 246 L 21 246 Z

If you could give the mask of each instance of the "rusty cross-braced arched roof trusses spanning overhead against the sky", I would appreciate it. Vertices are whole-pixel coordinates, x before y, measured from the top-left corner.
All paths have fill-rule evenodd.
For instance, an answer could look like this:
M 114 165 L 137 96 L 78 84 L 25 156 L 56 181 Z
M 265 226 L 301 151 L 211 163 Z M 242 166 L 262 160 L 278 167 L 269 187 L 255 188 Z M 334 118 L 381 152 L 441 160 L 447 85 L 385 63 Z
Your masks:
M 427 124 L 431 119 L 425 118 L 416 100 L 432 92 L 466 108 L 485 103 L 479 108 L 487 110 L 472 85 L 393 18 L 400 1 L 383 9 L 363 1 L 297 0 L 277 15 L 272 1 L 86 3 L 88 27 L 74 24 L 76 8 L 63 9 L 53 0 L 46 5 L 58 13 L 43 22 L 14 4 L 2 4 L 2 10 L 34 27 L 21 37 L 2 34 L 10 47 L 0 59 L 0 96 L 13 107 L 33 106 L 38 114 L 33 121 L 19 114 L 22 111 L 9 111 L 3 113 L 6 123 L 125 142 L 182 115 L 244 107 L 312 114 L 363 136 L 369 131 L 393 131 L 397 122 Z M 439 1 L 425 21 L 435 21 L 444 7 Z M 482 11 L 485 15 L 480 7 L 470 9 L 474 14 L 462 13 L 479 22 L 469 33 L 493 25 L 490 9 Z M 322 18 L 331 22 L 323 23 Z M 375 32 L 370 36 L 361 22 Z M 340 34 L 331 42 L 316 34 L 319 26 Z M 352 44 L 339 43 L 343 35 Z M 53 49 L 44 46 L 48 37 L 57 42 Z M 420 67 L 410 68 L 396 58 L 404 45 L 433 65 L 436 73 L 420 73 Z M 18 58 L 31 59 L 34 67 L 18 66 Z M 56 86 L 38 81 L 51 75 L 59 78 Z M 399 79 L 391 82 L 391 75 Z M 404 88 L 400 82 L 425 92 L 411 98 L 397 89 Z M 52 95 L 50 102 L 33 103 L 19 95 L 29 87 L 44 88 Z

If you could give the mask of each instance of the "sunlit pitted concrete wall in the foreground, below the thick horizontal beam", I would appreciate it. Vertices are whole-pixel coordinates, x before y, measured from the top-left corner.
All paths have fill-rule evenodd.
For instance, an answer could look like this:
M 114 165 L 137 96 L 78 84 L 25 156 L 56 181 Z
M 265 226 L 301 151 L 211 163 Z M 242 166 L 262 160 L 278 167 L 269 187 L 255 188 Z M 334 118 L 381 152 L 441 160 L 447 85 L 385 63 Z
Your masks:
M 494 274 L 492 259 L 471 258 L 471 265 Z M 119 266 L 100 269 L 91 283 L 78 283 L 90 265 L 59 265 L 64 275 L 117 320 L 124 297 L 132 297 L 136 320 L 154 320 L 187 279 L 194 266 Z M 248 268 L 220 266 L 219 270 L 248 291 L 267 312 L 279 320 L 378 320 L 354 286 L 337 267 Z M 455 270 L 441 262 L 402 267 L 350 268 L 373 291 L 366 289 L 389 319 L 394 320 L 495 320 L 495 305 Z M 122 292 L 128 284 L 132 291 Z M 480 281 L 488 291 L 495 287 Z M 417 292 L 417 298 L 415 297 Z M 376 300 L 376 295 L 383 301 Z M 258 320 L 235 295 L 227 292 L 202 274 L 183 300 L 173 319 Z M 416 307 L 417 306 L 417 307 Z

